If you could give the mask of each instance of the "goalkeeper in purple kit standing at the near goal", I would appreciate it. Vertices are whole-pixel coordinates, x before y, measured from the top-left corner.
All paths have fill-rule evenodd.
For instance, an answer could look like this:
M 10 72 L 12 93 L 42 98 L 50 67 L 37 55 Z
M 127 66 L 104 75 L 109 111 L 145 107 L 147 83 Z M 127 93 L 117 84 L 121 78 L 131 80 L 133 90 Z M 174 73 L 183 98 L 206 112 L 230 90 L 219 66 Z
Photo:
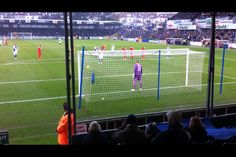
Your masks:
M 131 89 L 131 91 L 135 91 L 137 81 L 139 81 L 140 90 L 142 90 L 142 85 L 143 85 L 142 73 L 143 73 L 142 65 L 139 63 L 139 61 L 136 61 L 133 68 L 133 89 Z

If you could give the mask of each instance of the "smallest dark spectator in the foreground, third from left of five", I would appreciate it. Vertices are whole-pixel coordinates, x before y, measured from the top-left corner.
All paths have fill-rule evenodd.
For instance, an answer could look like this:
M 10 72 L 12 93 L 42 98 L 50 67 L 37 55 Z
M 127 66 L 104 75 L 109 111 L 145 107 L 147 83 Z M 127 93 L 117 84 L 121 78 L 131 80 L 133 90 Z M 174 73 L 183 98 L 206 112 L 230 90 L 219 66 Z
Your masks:
M 145 136 L 149 142 L 151 142 L 154 137 L 159 135 L 160 132 L 161 131 L 160 129 L 158 129 L 157 124 L 155 122 L 151 122 L 146 125 Z

